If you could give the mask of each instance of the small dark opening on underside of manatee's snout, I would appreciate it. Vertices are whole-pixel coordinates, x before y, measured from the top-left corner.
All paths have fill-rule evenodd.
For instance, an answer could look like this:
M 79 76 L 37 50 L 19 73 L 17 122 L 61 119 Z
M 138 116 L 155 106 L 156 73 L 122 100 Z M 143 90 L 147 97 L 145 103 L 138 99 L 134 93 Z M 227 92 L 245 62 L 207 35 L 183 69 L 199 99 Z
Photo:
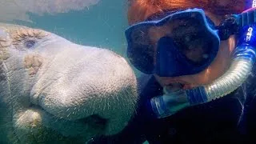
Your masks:
M 99 115 L 94 114 L 89 117 L 82 118 L 78 120 L 79 122 L 84 122 L 89 126 L 93 126 L 96 129 L 104 130 L 108 120 L 106 118 L 101 118 Z

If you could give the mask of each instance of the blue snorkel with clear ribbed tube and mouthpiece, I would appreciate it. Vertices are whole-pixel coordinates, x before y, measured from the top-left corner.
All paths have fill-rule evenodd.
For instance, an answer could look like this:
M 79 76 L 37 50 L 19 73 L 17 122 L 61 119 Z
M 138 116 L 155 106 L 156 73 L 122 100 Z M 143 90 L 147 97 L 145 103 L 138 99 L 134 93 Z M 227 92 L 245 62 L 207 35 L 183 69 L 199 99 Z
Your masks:
M 256 60 L 256 9 L 254 7 L 256 3 L 251 1 L 250 10 L 234 15 L 239 17 L 238 26 L 242 29 L 238 34 L 240 38 L 234 49 L 229 70 L 209 85 L 198 86 L 192 90 L 178 90 L 151 98 L 150 105 L 157 118 L 170 116 L 187 106 L 222 98 L 246 81 Z M 166 91 L 165 88 L 164 91 Z

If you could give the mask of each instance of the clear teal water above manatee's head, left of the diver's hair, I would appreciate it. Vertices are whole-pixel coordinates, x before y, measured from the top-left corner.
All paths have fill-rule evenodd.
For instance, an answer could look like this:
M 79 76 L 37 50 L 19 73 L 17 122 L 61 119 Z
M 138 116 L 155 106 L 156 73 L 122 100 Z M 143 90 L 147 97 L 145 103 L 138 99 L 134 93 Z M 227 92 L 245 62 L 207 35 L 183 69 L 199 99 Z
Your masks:
M 127 4 L 124 0 L 102 0 L 89 10 L 71 11 L 66 14 L 29 14 L 33 23 L 14 21 L 58 34 L 63 38 L 86 46 L 107 48 L 125 55 Z

